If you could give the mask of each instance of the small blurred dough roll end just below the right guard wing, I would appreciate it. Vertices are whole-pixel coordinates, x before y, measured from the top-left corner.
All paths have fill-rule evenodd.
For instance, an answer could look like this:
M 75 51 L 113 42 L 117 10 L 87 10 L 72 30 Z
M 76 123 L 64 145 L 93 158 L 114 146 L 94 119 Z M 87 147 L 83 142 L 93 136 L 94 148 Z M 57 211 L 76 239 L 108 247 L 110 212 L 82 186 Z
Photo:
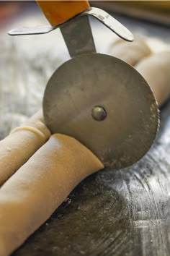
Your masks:
M 122 61 L 132 66 L 151 53 L 151 48 L 149 48 L 145 40 L 140 38 L 135 38 L 133 42 L 127 42 L 122 39 L 117 40 L 109 49 L 109 55 L 122 59 Z

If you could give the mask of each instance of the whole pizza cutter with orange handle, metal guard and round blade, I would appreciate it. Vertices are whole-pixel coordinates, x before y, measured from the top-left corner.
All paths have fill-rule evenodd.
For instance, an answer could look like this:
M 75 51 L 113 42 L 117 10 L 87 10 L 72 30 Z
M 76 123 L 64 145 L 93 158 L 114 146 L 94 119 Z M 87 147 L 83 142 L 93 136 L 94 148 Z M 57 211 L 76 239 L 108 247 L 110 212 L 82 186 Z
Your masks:
M 9 34 L 30 35 L 61 29 L 71 59 L 48 81 L 43 98 L 45 124 L 52 133 L 75 137 L 107 168 L 125 168 L 136 163 L 156 137 L 156 99 L 133 67 L 96 52 L 89 15 L 125 40 L 133 40 L 133 35 L 102 9 L 89 7 L 88 1 L 38 3 L 51 26 L 15 29 Z M 76 8 L 72 9 L 73 5 Z

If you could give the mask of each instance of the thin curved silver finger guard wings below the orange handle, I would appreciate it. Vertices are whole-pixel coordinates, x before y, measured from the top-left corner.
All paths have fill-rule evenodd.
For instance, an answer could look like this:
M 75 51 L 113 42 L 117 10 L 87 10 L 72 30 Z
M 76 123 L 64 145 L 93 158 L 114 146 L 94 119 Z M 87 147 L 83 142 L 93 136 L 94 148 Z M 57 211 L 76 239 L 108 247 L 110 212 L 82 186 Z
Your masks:
M 86 10 L 86 12 L 83 12 L 78 15 L 78 17 L 83 15 L 91 15 L 95 17 L 97 20 L 102 22 L 104 25 L 109 27 L 112 32 L 116 33 L 120 36 L 120 38 L 123 38 L 128 41 L 132 41 L 134 39 L 133 34 L 130 33 L 130 31 L 125 28 L 120 22 L 115 20 L 112 16 L 110 16 L 107 12 L 104 12 L 102 9 L 91 7 Z M 74 18 L 73 18 L 74 19 Z M 72 20 L 72 19 L 71 19 Z M 68 23 L 70 20 L 68 20 L 66 23 Z M 9 35 L 38 35 L 38 34 L 45 34 L 49 33 L 52 30 L 55 30 L 56 28 L 60 27 L 58 26 L 42 26 L 42 27 L 20 27 L 15 28 L 13 30 L 9 31 Z

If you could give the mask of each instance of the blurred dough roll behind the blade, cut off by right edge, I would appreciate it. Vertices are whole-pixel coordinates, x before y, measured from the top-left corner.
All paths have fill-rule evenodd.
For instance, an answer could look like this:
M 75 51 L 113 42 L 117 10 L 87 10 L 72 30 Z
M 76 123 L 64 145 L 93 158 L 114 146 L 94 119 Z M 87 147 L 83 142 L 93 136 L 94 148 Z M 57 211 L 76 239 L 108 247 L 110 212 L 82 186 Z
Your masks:
M 153 54 L 135 67 L 151 86 L 161 106 L 170 95 L 170 51 Z

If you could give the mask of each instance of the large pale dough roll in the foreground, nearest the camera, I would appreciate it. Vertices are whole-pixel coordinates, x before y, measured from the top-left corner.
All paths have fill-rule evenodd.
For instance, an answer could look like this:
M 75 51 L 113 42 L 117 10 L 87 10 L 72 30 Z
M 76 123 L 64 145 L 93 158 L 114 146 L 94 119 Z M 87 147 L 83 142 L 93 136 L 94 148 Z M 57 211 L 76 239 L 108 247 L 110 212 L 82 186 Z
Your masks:
M 82 179 L 103 167 L 77 140 L 52 135 L 0 189 L 0 256 L 17 249 Z

